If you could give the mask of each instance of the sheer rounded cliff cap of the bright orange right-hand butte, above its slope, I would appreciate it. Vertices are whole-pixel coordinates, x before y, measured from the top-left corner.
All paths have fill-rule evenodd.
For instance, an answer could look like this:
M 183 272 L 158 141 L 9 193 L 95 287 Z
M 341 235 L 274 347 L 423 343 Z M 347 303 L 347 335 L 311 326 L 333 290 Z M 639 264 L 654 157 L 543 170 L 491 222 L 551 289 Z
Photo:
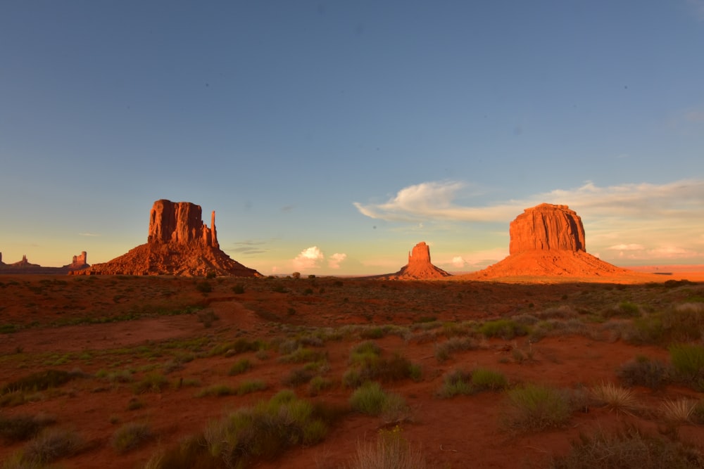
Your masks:
M 526 251 L 582 251 L 584 226 L 577 212 L 567 205 L 543 203 L 527 208 L 509 226 L 510 254 Z

